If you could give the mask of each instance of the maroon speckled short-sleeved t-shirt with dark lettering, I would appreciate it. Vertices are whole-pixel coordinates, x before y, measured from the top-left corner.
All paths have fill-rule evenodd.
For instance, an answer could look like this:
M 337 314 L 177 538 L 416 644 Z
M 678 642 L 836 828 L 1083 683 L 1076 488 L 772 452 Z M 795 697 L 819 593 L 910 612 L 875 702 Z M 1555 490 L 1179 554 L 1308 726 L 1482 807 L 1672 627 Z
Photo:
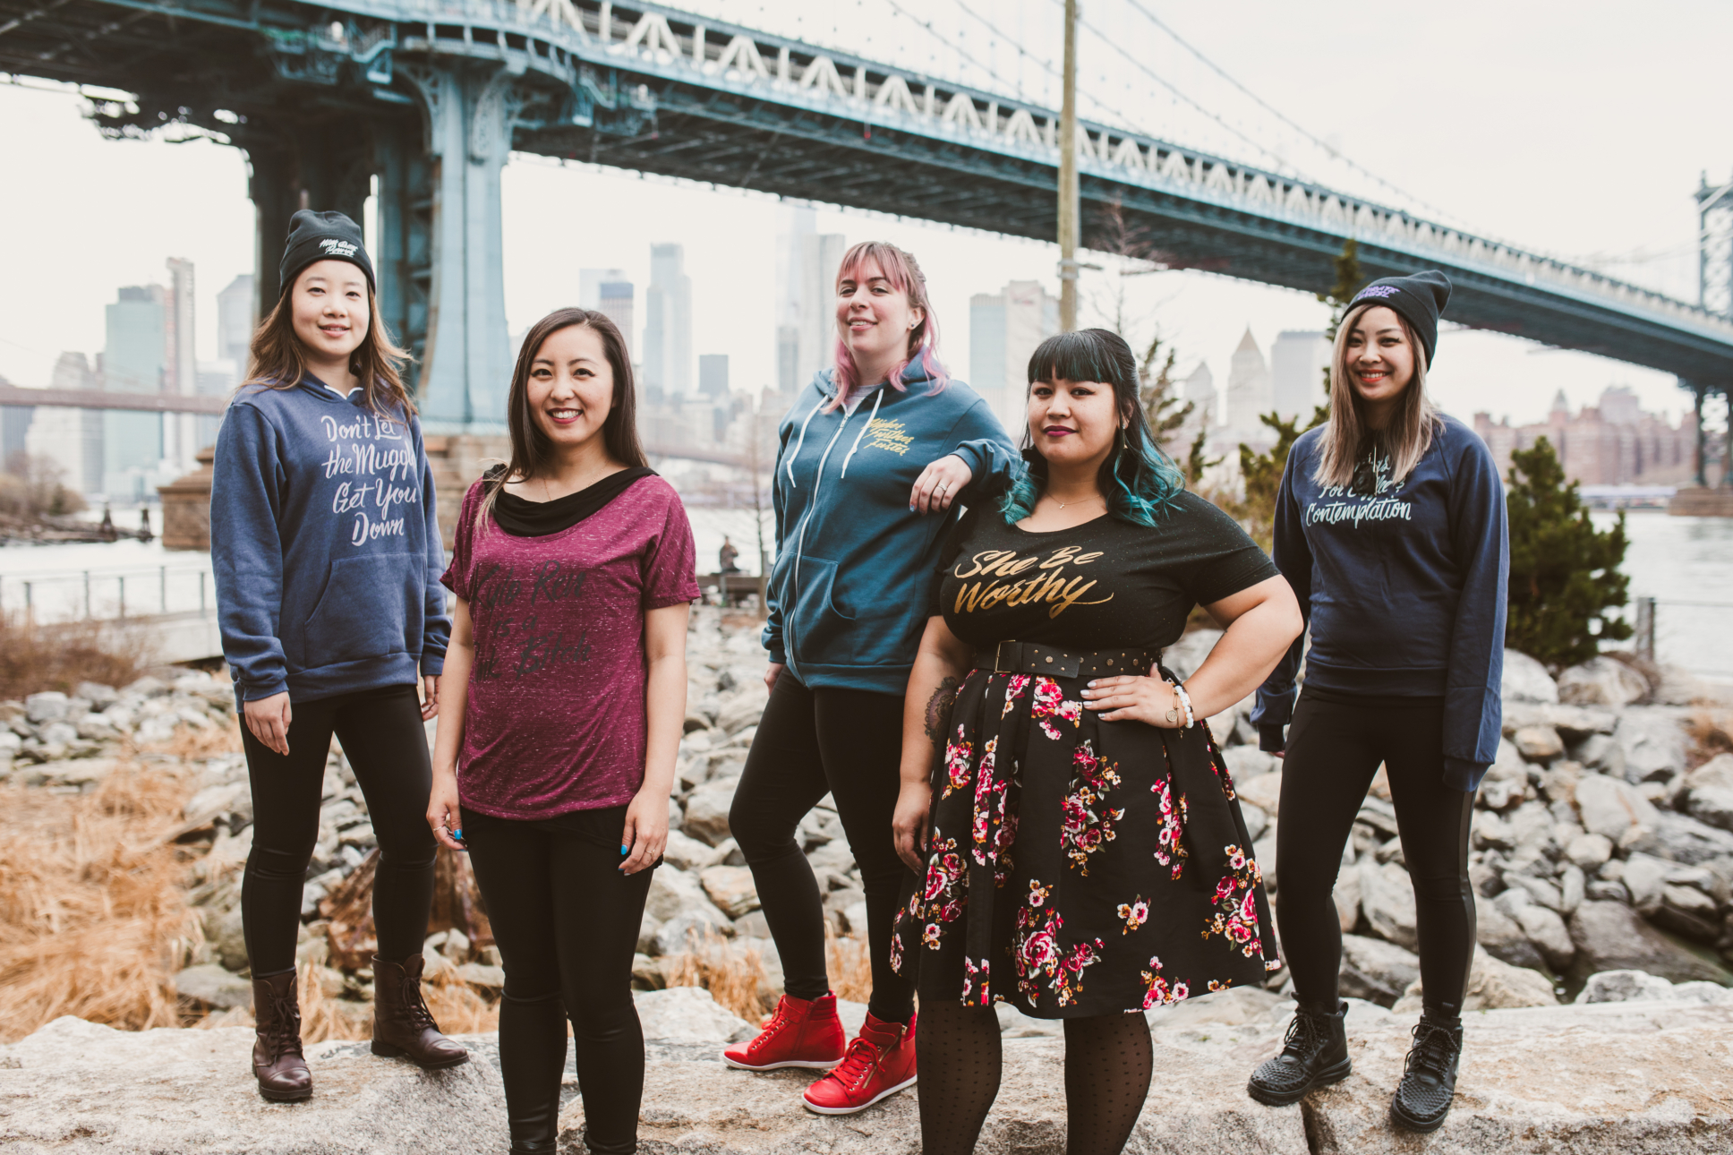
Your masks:
M 527 820 L 622 806 L 645 777 L 645 612 L 698 597 L 679 494 L 643 477 L 541 538 L 480 506 L 477 482 L 442 579 L 475 624 L 459 798 Z

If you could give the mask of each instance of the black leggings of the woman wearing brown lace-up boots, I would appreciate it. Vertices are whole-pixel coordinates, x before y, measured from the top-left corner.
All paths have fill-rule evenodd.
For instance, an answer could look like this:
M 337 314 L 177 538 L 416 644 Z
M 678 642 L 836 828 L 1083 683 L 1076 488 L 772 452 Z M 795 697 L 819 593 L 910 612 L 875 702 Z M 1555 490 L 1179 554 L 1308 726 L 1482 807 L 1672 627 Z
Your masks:
M 253 784 L 253 850 L 241 879 L 241 928 L 253 978 L 295 969 L 302 886 L 319 845 L 331 734 L 355 770 L 380 841 L 373 883 L 380 957 L 407 959 L 426 938 L 438 843 L 426 822 L 433 768 L 416 687 L 388 685 L 312 702 L 291 701 L 288 756 L 267 747 L 241 723 L 241 747 Z

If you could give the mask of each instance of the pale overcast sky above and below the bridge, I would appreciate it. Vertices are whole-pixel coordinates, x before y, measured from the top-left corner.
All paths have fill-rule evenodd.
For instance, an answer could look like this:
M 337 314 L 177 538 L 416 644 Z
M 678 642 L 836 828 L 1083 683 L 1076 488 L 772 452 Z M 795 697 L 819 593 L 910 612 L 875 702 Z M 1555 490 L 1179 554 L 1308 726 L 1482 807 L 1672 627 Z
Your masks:
M 1260 108 L 1137 5 L 1353 165 Z M 1055 92 L 1057 0 L 688 7 L 1031 101 Z M 988 10 L 991 28 L 974 16 Z M 1087 116 L 1442 215 L 1695 300 L 1691 192 L 1705 170 L 1716 184 L 1733 177 L 1724 94 L 1733 3 L 1087 0 L 1083 19 L 1092 26 L 1080 47 Z M 68 92 L 0 85 L 0 154 L 9 158 L 0 375 L 24 385 L 45 385 L 62 349 L 97 352 L 102 305 L 121 284 L 163 281 L 166 257 L 198 267 L 199 350 L 213 356 L 215 293 L 253 265 L 239 151 L 107 142 L 80 111 Z M 523 156 L 506 168 L 504 206 L 513 333 L 575 303 L 579 267 L 622 267 L 641 290 L 650 245 L 678 241 L 693 277 L 693 352 L 728 354 L 737 388 L 769 382 L 773 198 Z M 821 210 L 818 227 L 851 243 L 892 239 L 920 257 L 941 352 L 960 376 L 969 373 L 970 293 L 1012 277 L 1057 291 L 1048 245 L 837 210 Z M 1208 361 L 1218 385 L 1248 326 L 1267 352 L 1277 331 L 1326 321 L 1310 295 L 1199 272 L 1142 277 L 1135 303 L 1175 342 L 1184 368 Z M 1684 401 L 1672 378 L 1648 369 L 1470 331 L 1440 338 L 1430 383 L 1464 420 L 1475 409 L 1537 420 L 1558 388 L 1582 404 L 1612 383 L 1632 385 L 1655 409 L 1678 413 Z

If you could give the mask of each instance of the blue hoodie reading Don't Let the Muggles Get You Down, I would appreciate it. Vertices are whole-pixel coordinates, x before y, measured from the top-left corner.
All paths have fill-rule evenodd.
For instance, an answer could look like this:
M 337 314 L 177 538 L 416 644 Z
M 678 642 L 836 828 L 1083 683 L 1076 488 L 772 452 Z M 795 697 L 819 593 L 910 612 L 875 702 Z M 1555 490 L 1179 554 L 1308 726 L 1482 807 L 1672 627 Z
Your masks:
M 217 434 L 211 569 L 243 702 L 440 673 L 445 550 L 421 423 L 315 378 L 243 390 Z

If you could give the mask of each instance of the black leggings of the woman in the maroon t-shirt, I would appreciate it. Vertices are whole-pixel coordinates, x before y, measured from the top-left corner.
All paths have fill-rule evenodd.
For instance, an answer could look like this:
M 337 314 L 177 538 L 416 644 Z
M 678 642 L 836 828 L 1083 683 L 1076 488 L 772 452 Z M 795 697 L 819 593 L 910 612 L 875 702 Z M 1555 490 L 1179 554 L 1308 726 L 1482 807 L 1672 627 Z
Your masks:
M 638 1150 L 645 1037 L 633 950 L 653 871 L 620 874 L 624 827 L 626 806 L 549 822 L 463 810 L 463 841 L 506 969 L 499 1075 L 515 1141 L 555 1138 L 570 1016 L 584 1145 L 593 1155 Z

